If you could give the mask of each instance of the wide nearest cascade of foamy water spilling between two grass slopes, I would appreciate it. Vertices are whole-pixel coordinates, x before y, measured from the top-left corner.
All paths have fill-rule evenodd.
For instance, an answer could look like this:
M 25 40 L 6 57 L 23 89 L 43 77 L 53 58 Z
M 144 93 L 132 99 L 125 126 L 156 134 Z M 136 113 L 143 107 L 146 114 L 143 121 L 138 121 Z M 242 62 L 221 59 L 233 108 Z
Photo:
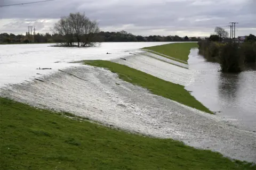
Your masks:
M 0 90 L 0 96 L 256 162 L 255 133 L 235 128 L 215 115 L 152 95 L 108 70 L 81 65 L 41 79 L 44 82 L 34 80 L 6 87 Z

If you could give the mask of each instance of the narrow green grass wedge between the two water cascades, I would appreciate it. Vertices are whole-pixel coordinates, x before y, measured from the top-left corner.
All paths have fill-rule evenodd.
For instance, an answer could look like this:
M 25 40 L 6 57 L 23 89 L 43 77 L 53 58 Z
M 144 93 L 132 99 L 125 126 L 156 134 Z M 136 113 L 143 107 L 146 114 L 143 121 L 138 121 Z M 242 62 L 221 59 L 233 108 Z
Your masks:
M 180 84 L 174 84 L 142 71 L 132 69 L 131 67 L 110 61 L 85 61 L 85 64 L 107 68 L 111 72 L 117 73 L 120 79 L 146 88 L 155 95 L 163 96 L 181 104 L 196 108 L 200 111 L 212 114 L 208 108 L 197 101 L 192 95 L 189 94 L 184 86 L 181 86 Z

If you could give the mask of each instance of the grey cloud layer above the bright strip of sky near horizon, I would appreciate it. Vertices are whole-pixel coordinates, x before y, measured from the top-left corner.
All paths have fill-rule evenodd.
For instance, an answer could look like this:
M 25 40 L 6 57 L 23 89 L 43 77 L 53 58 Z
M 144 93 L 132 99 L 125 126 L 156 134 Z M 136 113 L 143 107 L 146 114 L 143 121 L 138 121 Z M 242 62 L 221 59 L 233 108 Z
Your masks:
M 20 3 L 20 0 L 4 1 L 5 4 L 7 2 L 15 4 Z M 0 16 L 3 19 L 59 19 L 60 16 L 68 15 L 70 12 L 79 11 L 85 12 L 91 19 L 99 20 L 101 27 L 133 24 L 147 29 L 187 28 L 187 30 L 200 31 L 212 30 L 216 25 L 226 26 L 229 22 L 239 22 L 243 28 L 252 27 L 246 23 L 256 23 L 255 2 L 255 0 L 55 0 L 3 7 L 0 8 Z M 180 20 L 180 18 L 184 19 Z

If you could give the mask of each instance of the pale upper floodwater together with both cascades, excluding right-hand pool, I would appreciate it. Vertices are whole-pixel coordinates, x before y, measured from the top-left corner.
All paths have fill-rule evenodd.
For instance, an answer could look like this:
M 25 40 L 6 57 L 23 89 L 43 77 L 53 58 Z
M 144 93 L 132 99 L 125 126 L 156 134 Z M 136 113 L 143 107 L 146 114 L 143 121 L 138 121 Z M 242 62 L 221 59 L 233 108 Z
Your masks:
M 194 82 L 194 71 L 180 67 L 187 67 L 186 64 L 137 50 L 161 44 L 165 43 L 103 43 L 93 48 L 3 45 L 0 46 L 0 96 L 256 162 L 254 132 L 236 128 L 218 116 L 152 95 L 146 89 L 119 80 L 108 70 L 69 63 L 112 60 L 185 86 Z M 36 70 L 38 67 L 52 70 Z M 44 82 L 35 80 L 36 77 Z

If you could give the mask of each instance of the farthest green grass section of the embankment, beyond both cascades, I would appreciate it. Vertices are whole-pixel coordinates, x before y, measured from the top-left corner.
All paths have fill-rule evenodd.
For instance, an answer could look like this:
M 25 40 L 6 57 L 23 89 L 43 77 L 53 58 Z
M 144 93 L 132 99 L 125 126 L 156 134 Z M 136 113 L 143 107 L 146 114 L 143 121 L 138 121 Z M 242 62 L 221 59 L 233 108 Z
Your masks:
M 188 55 L 191 48 L 198 48 L 197 43 L 172 43 L 153 47 L 145 47 L 142 49 L 150 49 L 154 52 L 161 53 L 179 60 L 188 61 Z M 168 57 L 166 57 L 168 58 Z

